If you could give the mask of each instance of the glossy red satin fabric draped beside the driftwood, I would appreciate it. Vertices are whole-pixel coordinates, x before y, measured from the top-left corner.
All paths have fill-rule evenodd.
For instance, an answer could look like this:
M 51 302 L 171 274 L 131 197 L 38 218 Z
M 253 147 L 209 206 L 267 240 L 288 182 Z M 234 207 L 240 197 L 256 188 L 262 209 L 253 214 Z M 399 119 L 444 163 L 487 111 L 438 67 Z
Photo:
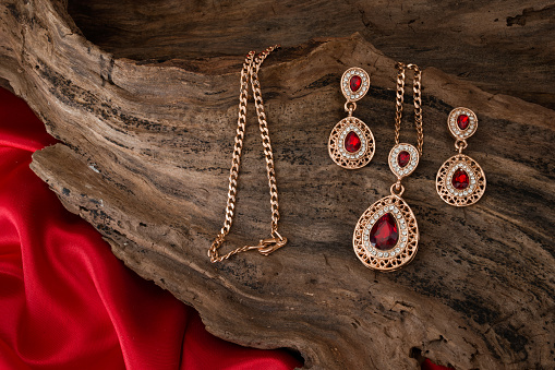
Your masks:
M 26 104 L 0 88 L 0 369 L 302 365 L 285 350 L 216 338 L 192 308 L 126 268 L 28 168 L 32 153 L 53 143 Z

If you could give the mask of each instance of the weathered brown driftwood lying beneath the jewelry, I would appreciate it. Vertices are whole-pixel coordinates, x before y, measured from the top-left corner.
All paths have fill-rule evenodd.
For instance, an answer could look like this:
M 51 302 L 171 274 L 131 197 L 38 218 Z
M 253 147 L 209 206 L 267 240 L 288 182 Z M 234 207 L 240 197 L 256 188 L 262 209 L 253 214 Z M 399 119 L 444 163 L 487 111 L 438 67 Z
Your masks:
M 63 1 L 3 1 L 0 81 L 62 141 L 35 153 L 32 168 L 126 265 L 195 307 L 212 333 L 258 348 L 294 348 L 306 368 L 410 369 L 420 355 L 457 369 L 553 365 L 555 74 L 541 65 L 553 61 L 546 33 L 553 8 L 530 2 L 535 10 L 518 15 L 517 1 L 450 11 L 450 1 L 408 10 L 400 1 L 388 8 L 249 1 L 212 4 L 193 22 L 204 8 L 186 9 L 186 1 L 118 3 L 70 3 L 92 43 Z M 363 24 L 346 22 L 353 14 Z M 366 38 L 304 43 L 353 31 Z M 503 33 L 514 36 L 510 45 L 494 39 Z M 276 41 L 286 47 L 260 76 L 280 230 L 290 243 L 267 258 L 251 252 L 212 264 L 206 251 L 224 217 L 242 55 Z M 394 181 L 386 164 L 394 59 L 427 67 L 424 156 L 405 181 L 421 241 L 410 265 L 381 274 L 358 261 L 351 235 Z M 371 74 L 357 116 L 377 143 L 371 165 L 357 171 L 336 166 L 326 148 L 345 116 L 339 76 L 351 65 Z M 483 167 L 487 189 L 468 208 L 449 207 L 435 193 L 436 170 L 454 153 L 445 124 L 454 106 L 480 119 L 466 153 Z M 250 117 L 227 248 L 256 242 L 269 228 L 252 109 Z M 409 118 L 402 140 L 413 142 Z

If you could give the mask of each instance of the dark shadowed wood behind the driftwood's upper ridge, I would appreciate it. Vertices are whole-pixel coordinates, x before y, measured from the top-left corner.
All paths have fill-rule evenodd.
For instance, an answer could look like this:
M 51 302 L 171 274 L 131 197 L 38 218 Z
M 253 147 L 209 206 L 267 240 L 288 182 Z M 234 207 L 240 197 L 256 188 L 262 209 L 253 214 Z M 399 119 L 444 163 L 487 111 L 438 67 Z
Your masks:
M 69 11 L 94 44 L 118 58 L 150 62 L 297 47 L 359 32 L 394 59 L 555 108 L 553 1 L 80 0 L 70 1 Z

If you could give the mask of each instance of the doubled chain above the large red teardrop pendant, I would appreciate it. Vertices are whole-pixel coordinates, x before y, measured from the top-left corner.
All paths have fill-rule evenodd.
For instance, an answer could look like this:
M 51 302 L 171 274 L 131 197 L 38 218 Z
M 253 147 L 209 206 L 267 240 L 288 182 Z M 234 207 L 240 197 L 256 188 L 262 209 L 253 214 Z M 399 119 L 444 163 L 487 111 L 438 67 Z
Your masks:
M 401 133 L 402 104 L 405 102 L 405 72 L 407 69 L 414 71 L 412 80 L 412 93 L 414 103 L 414 127 L 418 134 L 418 151 L 422 156 L 422 146 L 424 145 L 424 130 L 422 128 L 422 71 L 417 64 L 396 64 L 397 72 L 397 93 L 395 100 L 395 144 L 399 144 Z

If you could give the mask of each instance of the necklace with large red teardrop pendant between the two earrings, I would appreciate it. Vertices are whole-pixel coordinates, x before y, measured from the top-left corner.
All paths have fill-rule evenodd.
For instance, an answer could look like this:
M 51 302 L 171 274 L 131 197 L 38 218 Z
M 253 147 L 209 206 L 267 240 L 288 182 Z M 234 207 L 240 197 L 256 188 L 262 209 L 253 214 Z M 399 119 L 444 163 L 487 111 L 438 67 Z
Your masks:
M 414 171 L 422 155 L 424 132 L 422 130 L 422 72 L 417 64 L 397 63 L 397 98 L 395 115 L 395 146 L 389 152 L 388 163 L 397 176 L 390 192 L 372 204 L 360 217 L 352 236 L 354 253 L 370 268 L 394 271 L 412 261 L 418 251 L 419 228 L 410 206 L 401 198 L 405 187 L 402 178 Z M 418 134 L 418 148 L 400 143 L 402 103 L 405 95 L 405 72 L 414 71 L 414 127 Z

